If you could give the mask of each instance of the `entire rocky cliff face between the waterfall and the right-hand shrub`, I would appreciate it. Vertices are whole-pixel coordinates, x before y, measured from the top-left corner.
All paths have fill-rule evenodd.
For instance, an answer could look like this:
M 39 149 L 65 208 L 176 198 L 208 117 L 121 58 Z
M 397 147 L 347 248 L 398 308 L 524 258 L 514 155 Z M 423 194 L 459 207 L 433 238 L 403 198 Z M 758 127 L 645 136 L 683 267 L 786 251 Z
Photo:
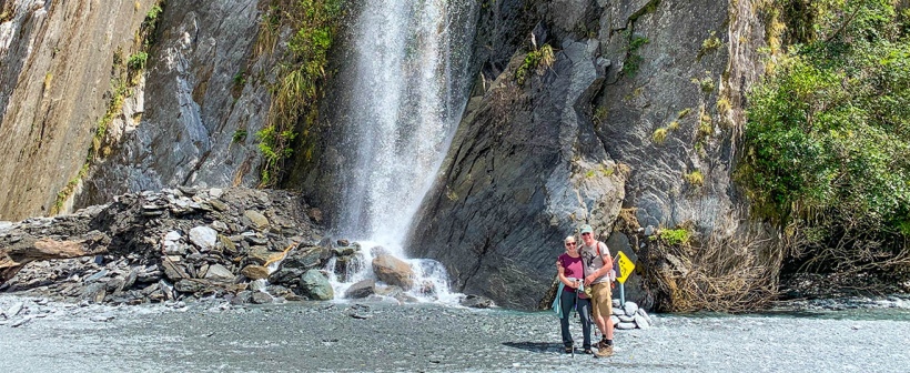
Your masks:
M 477 53 L 481 82 L 415 224 L 416 255 L 446 263 L 458 290 L 530 308 L 578 224 L 603 232 L 614 254 L 648 255 L 646 279 L 692 261 L 649 254 L 645 232 L 686 226 L 707 243 L 754 231 L 731 183 L 764 44 L 750 4 L 520 3 L 485 8 L 478 50 L 512 53 Z M 518 37 L 489 37 L 502 34 Z M 529 67 L 545 43 L 555 62 Z M 646 304 L 670 292 L 638 281 L 629 292 Z

